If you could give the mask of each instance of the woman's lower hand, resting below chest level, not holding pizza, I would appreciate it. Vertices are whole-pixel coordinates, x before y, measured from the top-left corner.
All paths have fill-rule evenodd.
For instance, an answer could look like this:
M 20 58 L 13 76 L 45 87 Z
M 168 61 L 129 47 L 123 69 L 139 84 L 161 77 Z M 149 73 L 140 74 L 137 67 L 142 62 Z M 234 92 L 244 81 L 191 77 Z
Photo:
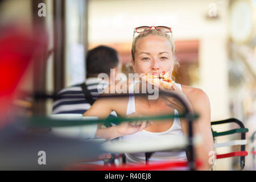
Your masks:
M 133 113 L 128 114 L 127 118 L 141 118 L 144 117 L 144 115 Z M 122 122 L 119 125 L 117 125 L 117 133 L 121 136 L 123 135 L 131 135 L 134 133 L 137 133 L 138 131 L 142 131 L 146 129 L 148 126 L 152 125 L 152 121 L 145 121 L 145 120 L 139 120 L 133 121 L 133 122 Z

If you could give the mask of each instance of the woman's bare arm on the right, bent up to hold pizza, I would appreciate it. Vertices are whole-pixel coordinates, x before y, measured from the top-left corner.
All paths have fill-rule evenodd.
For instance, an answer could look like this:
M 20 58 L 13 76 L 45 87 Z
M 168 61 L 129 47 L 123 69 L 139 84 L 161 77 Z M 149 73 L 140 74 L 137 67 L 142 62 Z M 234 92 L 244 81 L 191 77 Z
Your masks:
M 175 84 L 169 92 L 176 93 L 183 99 L 192 113 L 199 114 L 200 117 L 193 122 L 193 136 L 200 135 L 203 138 L 203 143 L 195 147 L 195 153 L 196 158 L 203 163 L 203 166 L 199 170 L 209 170 L 212 166 L 212 163 L 209 163 L 209 158 L 212 158 L 212 155 L 210 155 L 212 151 L 214 153 L 214 143 L 210 126 L 210 102 L 207 94 L 201 89 L 191 88 L 189 86 L 183 86 L 183 90 L 181 91 Z M 176 98 L 162 97 L 168 106 L 176 109 L 179 113 L 183 113 L 184 106 Z M 187 135 L 188 122 L 185 119 L 180 119 L 180 122 L 183 133 Z

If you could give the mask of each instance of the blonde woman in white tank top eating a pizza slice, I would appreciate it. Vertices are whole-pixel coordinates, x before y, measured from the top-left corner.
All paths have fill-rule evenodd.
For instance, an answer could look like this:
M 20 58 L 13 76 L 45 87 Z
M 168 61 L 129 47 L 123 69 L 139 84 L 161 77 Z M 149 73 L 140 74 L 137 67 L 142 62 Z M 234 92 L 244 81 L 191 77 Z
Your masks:
M 174 56 L 174 42 L 169 35 L 169 27 L 138 27 L 134 34 L 139 35 L 133 39 L 132 46 L 132 67 L 135 73 L 151 73 L 159 75 L 165 71 L 174 71 L 176 60 Z M 171 75 L 171 74 L 170 74 Z M 123 84 L 125 86 L 125 84 Z M 139 82 L 127 83 L 129 93 L 136 87 L 141 86 Z M 159 86 L 159 89 L 164 89 Z M 106 88 L 109 91 L 110 88 Z M 105 91 L 106 91 L 105 90 Z M 166 89 L 165 89 L 166 90 Z M 186 102 L 189 109 L 200 115 L 193 125 L 193 135 L 200 134 L 203 143 L 195 147 L 196 158 L 203 162 L 199 168 L 209 170 L 209 152 L 214 151 L 213 137 L 210 127 L 210 104 L 207 94 L 201 89 L 175 83 L 169 92 L 179 94 Z M 172 97 L 158 97 L 156 100 L 148 100 L 146 97 L 118 97 L 118 98 L 99 98 L 84 116 L 97 116 L 107 118 L 115 111 L 121 117 L 141 117 L 142 115 L 162 115 L 182 113 L 183 106 Z M 141 132 L 140 132 L 141 131 Z M 109 128 L 100 128 L 96 137 L 106 138 L 108 140 L 122 137 L 122 140 L 135 140 L 138 138 L 163 139 L 172 136 L 182 136 L 187 134 L 187 123 L 184 119 L 168 119 L 167 121 L 142 121 L 142 122 L 124 122 L 117 126 Z M 165 155 L 165 156 L 163 156 Z M 126 154 L 130 162 L 142 162 L 143 154 Z M 186 159 L 185 152 L 169 152 L 168 154 L 160 152 L 154 153 L 150 159 L 161 160 L 170 158 Z

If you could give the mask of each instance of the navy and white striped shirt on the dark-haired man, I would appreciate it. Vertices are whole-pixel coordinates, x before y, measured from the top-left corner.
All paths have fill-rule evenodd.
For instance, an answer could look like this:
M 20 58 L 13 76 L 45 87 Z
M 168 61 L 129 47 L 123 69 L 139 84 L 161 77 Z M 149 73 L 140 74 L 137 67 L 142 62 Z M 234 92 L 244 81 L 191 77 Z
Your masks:
M 93 100 L 96 100 L 98 95 L 108 86 L 107 82 L 98 80 L 98 78 L 86 78 L 85 84 L 92 94 Z M 80 84 L 60 90 L 57 97 L 60 98 L 53 103 L 52 114 L 84 114 L 91 106 L 83 98 L 84 92 Z M 117 114 L 113 111 L 109 117 L 117 117 Z

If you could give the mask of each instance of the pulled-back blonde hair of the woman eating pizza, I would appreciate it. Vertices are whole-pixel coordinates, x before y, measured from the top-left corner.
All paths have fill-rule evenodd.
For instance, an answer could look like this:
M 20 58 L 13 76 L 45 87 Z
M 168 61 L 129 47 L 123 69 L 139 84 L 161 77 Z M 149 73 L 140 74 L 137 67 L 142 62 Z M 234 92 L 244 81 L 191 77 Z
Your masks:
M 131 46 L 131 57 L 132 57 L 132 61 L 135 61 L 135 52 L 136 52 L 136 45 L 138 43 L 138 40 L 139 39 L 142 39 L 146 36 L 149 36 L 149 35 L 156 35 L 156 36 L 161 36 L 163 38 L 166 38 L 170 43 L 171 43 L 171 46 L 172 46 L 172 58 L 174 59 L 174 67 L 177 68 L 179 67 L 179 62 L 176 60 L 175 58 L 175 46 L 174 46 L 174 40 L 171 38 L 171 36 L 169 34 L 166 34 L 166 33 L 162 33 L 162 32 L 159 32 L 159 31 L 156 31 L 155 29 L 152 29 L 150 30 L 149 32 L 146 32 L 146 33 L 143 33 L 143 34 L 139 34 L 138 36 L 136 36 L 134 39 L 133 39 L 133 44 Z M 132 67 L 132 63 L 128 63 L 126 65 L 126 68 L 130 71 Z

